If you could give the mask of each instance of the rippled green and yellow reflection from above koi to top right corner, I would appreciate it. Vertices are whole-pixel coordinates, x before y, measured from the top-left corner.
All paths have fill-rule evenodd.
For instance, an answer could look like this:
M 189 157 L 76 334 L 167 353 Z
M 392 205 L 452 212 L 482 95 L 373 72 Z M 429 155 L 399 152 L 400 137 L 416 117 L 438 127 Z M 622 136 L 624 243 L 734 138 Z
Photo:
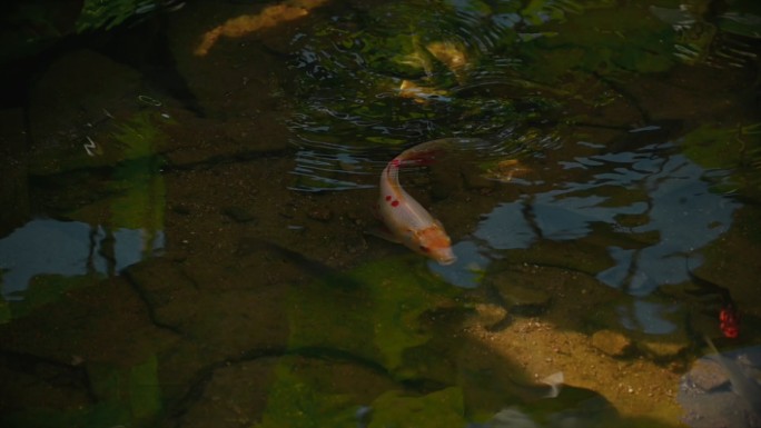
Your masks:
M 342 168 L 346 158 L 368 158 L 363 149 L 493 138 L 551 121 L 571 100 L 599 108 L 627 98 L 611 91 L 622 76 L 678 63 L 747 67 L 757 58 L 752 13 L 724 12 L 716 24 L 699 4 L 524 3 L 391 2 L 295 37 L 302 99 L 289 127 L 303 150 L 294 189 L 366 187 Z M 600 93 L 586 96 L 595 86 Z M 324 162 L 315 168 L 315 160 Z

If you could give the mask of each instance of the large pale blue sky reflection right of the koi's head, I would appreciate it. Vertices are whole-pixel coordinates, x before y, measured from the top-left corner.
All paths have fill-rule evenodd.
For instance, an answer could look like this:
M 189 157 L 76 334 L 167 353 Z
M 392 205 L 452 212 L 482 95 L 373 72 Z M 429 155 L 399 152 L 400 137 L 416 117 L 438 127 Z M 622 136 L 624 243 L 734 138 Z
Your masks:
M 605 248 L 613 265 L 596 278 L 642 298 L 633 307 L 620 308 L 622 324 L 666 334 L 673 325 L 663 316 L 673 308 L 644 298 L 661 285 L 689 280 L 686 258 L 724 233 L 740 207 L 701 179 L 716 171 L 706 171 L 672 149 L 653 145 L 565 162 L 565 169 L 591 176 L 497 206 L 472 237 L 455 245 L 458 262 L 452 269 L 435 263 L 431 269 L 451 283 L 473 288 L 477 271 L 502 250 L 527 249 L 540 240 L 585 239 L 604 229 L 614 242 Z M 632 217 L 636 223 L 626 225 Z

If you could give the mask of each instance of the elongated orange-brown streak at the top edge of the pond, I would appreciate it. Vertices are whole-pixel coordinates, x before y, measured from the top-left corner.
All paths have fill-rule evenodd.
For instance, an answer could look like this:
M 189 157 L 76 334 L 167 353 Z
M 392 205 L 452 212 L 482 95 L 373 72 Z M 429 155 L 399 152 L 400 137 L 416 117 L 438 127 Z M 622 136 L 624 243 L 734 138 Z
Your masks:
M 204 34 L 196 48 L 196 56 L 205 57 L 217 40 L 225 36 L 229 38 L 244 37 L 261 29 L 271 28 L 280 22 L 293 21 L 309 13 L 310 9 L 319 7 L 327 0 L 294 0 L 264 8 L 257 14 L 243 14 L 227 20 Z

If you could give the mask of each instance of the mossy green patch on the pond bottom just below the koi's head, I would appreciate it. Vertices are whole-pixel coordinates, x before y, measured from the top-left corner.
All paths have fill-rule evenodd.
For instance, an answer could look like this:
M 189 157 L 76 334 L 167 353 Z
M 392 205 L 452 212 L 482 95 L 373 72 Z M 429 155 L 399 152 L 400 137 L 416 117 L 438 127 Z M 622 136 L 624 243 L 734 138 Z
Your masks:
M 435 278 L 423 261 L 402 257 L 346 273 L 344 283 L 317 281 L 290 298 L 290 346 L 340 349 L 394 372 L 405 350 L 431 338 L 421 317 L 453 306 L 459 292 Z

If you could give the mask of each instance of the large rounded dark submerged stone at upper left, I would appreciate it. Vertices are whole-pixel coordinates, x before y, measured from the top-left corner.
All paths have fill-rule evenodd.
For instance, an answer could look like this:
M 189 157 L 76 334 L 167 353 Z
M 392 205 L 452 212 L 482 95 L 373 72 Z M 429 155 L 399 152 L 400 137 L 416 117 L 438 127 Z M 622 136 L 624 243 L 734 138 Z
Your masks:
M 117 123 L 137 112 L 135 94 L 140 89 L 137 70 L 92 50 L 58 58 L 30 91 L 30 172 L 57 173 L 122 160 L 111 135 L 118 131 Z

